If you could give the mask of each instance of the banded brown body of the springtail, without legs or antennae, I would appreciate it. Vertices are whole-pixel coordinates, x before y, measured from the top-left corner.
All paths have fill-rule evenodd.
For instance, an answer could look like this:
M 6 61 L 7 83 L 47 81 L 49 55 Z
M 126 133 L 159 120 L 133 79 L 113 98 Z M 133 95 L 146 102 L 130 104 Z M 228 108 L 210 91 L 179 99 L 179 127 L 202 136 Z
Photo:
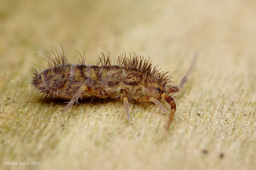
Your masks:
M 140 77 L 120 66 L 115 66 L 114 70 L 89 64 L 66 64 L 64 67 L 65 69 L 62 68 L 62 70 L 56 68 L 43 70 L 31 84 L 41 92 L 62 99 L 71 99 L 82 85 L 97 91 L 96 95 L 82 92 L 82 98 L 92 96 L 118 98 L 123 93 L 129 100 L 150 96 L 150 94 L 154 94 L 151 97 L 162 98 L 156 93 L 150 93 L 155 91 L 155 88 L 152 88 L 152 80 L 138 83 Z

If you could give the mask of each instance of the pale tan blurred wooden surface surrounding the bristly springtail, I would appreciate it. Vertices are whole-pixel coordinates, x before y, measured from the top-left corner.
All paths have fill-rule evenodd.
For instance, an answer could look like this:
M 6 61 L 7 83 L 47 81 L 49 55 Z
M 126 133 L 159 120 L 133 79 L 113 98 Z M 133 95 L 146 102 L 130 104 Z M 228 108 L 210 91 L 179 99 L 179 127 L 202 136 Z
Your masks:
M 255 9 L 252 0 L 1 2 L 0 169 L 255 169 Z M 79 39 L 86 63 L 100 50 L 135 51 L 176 83 L 198 51 L 170 131 L 154 104 L 130 106 L 129 124 L 120 100 L 62 113 L 65 101 L 29 91 L 28 64 L 47 65 L 35 51 L 58 39 L 72 63 Z

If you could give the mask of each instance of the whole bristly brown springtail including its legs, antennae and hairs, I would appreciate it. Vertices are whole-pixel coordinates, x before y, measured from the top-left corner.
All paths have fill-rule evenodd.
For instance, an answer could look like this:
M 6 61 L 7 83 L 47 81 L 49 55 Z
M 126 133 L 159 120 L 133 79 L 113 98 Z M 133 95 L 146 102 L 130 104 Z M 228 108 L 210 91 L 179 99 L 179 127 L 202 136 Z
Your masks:
M 120 98 L 124 102 L 128 120 L 130 113 L 128 101 L 154 102 L 166 113 L 170 113 L 167 129 L 174 119 L 176 110 L 172 94 L 178 92 L 187 80 L 194 65 L 194 60 L 185 76 L 178 85 L 174 85 L 168 72 L 161 72 L 152 66 L 149 60 L 135 53 L 120 54 L 112 58 L 110 53 L 101 53 L 96 65 L 85 64 L 85 57 L 79 64 L 68 63 L 68 58 L 61 45 L 52 45 L 52 56 L 48 59 L 48 66 L 41 72 L 32 66 L 30 84 L 39 92 L 56 98 L 70 100 L 64 109 L 67 111 L 79 98 Z M 79 53 L 80 54 L 80 53 Z M 164 98 L 171 106 L 170 112 L 159 102 Z

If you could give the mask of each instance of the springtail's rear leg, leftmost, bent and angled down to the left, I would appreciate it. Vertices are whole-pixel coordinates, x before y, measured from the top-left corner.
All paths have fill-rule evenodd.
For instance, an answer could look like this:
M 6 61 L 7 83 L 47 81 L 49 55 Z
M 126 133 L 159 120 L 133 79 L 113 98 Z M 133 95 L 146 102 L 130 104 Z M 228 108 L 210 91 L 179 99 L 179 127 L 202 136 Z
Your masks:
M 72 99 L 68 102 L 67 106 L 64 109 L 64 112 L 67 111 L 82 95 L 82 92 L 88 92 L 89 94 L 92 94 L 92 96 L 98 96 L 99 92 L 97 90 L 94 90 L 93 88 L 82 85 L 79 90 L 76 92 L 76 94 L 72 97 Z

